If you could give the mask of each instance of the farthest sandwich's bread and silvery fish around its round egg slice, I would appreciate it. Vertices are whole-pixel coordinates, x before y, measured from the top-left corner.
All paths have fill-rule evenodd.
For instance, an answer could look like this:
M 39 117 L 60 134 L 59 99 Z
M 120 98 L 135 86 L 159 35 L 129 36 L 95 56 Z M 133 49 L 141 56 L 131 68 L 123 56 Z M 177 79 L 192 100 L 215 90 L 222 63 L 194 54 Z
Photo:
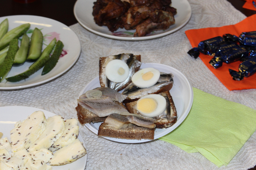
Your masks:
M 108 57 L 101 57 L 99 61 L 100 62 L 99 76 L 100 76 L 101 87 L 109 87 L 117 91 L 121 91 L 122 89 L 124 89 L 128 85 L 128 83 L 131 82 L 132 75 L 135 72 L 137 72 L 141 66 L 141 62 L 137 59 L 137 57 L 140 58 L 140 55 L 136 56 L 136 55 L 133 55 L 132 53 L 129 53 L 129 54 L 122 53 L 118 55 L 111 55 Z M 120 59 L 124 61 L 125 63 L 127 63 L 129 67 L 129 76 L 125 81 L 121 83 L 112 82 L 106 77 L 105 68 L 107 64 L 114 59 Z

